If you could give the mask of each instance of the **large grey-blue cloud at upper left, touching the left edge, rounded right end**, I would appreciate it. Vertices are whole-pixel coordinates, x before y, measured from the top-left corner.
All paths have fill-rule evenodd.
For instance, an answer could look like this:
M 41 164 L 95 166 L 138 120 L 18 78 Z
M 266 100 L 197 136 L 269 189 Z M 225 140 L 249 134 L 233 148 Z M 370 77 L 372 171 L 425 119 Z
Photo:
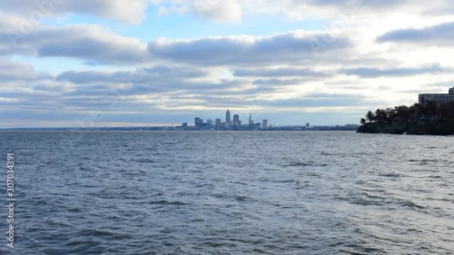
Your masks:
M 24 30 L 24 25 L 29 26 Z M 101 25 L 47 26 L 0 12 L 0 54 L 74 57 L 97 64 L 136 64 L 149 58 L 146 44 Z

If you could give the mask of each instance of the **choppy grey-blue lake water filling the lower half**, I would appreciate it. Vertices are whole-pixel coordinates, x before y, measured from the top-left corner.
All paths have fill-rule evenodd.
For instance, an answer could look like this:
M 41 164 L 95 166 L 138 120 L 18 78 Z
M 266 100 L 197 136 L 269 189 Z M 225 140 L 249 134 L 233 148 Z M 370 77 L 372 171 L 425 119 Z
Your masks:
M 15 152 L 17 198 L 15 250 L 2 238 L 1 254 L 454 253 L 454 137 L 0 132 L 0 138 L 2 165 Z

